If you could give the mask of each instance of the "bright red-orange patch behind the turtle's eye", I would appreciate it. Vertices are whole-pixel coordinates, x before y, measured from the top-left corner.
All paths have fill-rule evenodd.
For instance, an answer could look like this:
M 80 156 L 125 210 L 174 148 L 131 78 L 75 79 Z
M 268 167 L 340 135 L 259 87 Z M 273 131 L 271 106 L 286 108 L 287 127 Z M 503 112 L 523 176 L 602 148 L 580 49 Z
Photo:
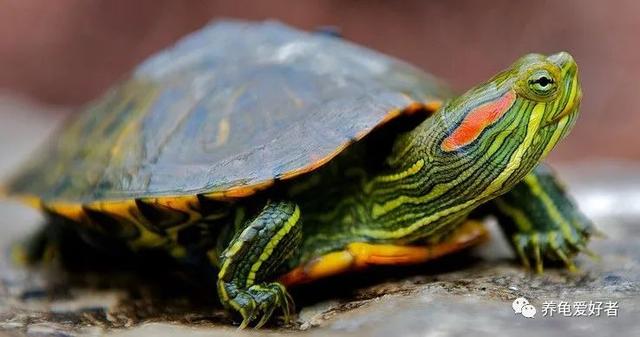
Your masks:
M 515 91 L 509 90 L 495 101 L 487 102 L 471 110 L 462 123 L 442 142 L 442 150 L 447 152 L 457 150 L 473 142 L 482 133 L 482 130 L 500 119 L 511 108 L 515 100 Z

